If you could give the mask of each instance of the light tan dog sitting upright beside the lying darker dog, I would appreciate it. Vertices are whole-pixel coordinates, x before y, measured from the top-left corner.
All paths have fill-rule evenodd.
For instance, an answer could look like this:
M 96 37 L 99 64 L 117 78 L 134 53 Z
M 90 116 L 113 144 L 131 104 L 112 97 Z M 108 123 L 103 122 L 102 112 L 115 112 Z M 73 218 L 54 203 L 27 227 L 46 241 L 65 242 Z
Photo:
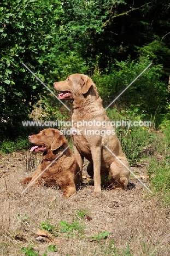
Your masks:
M 94 193 L 101 191 L 101 177 L 103 183 L 108 181 L 113 188 L 125 189 L 130 176 L 128 161 L 113 126 L 109 124 L 96 85 L 87 75 L 72 74 L 65 81 L 54 83 L 54 88 L 62 92 L 57 96 L 60 100 L 74 100 L 74 154 L 80 170 L 84 157 L 90 161 L 87 172 L 94 179 Z M 106 126 L 95 125 L 103 121 Z M 84 125 L 80 127 L 81 123 Z

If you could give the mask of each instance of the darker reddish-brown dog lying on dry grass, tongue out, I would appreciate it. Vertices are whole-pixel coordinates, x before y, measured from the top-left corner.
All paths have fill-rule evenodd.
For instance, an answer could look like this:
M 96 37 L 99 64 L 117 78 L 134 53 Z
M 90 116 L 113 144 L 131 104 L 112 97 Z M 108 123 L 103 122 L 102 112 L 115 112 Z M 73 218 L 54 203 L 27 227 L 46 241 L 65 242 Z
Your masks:
M 82 177 L 72 150 L 67 148 L 66 137 L 61 135 L 57 129 L 45 129 L 37 135 L 29 136 L 28 139 L 33 144 L 32 152 L 43 152 L 43 160 L 33 176 L 24 179 L 22 183 L 28 184 L 34 181 L 31 186 L 42 181 L 51 186 L 58 184 L 64 191 L 65 197 L 71 196 L 76 190 L 76 185 L 80 185 Z M 64 150 L 65 152 L 63 152 Z M 61 154 L 62 152 L 63 154 Z M 45 168 L 47 169 L 45 170 Z M 38 177 L 40 173 L 42 175 Z

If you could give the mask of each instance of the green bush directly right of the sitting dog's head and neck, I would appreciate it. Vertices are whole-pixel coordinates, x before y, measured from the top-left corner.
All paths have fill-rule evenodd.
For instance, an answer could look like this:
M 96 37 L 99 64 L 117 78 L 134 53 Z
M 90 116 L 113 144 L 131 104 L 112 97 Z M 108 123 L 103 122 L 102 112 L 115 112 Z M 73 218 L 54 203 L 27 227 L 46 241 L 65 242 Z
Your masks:
M 107 107 L 142 72 L 150 61 L 139 59 L 132 61 L 115 61 L 109 73 L 98 73 L 92 76 L 99 94 Z M 114 106 L 119 109 L 130 107 L 139 112 L 154 114 L 165 112 L 167 106 L 167 84 L 162 81 L 162 66 L 149 67 L 124 94 L 115 101 Z M 113 107 L 113 106 L 112 106 Z M 110 107 L 111 108 L 111 107 Z

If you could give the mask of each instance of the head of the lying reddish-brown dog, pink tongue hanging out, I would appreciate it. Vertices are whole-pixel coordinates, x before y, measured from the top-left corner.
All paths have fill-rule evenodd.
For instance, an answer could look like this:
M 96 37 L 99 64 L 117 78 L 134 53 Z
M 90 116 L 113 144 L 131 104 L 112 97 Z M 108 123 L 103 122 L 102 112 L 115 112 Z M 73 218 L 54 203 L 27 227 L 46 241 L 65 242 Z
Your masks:
M 48 149 L 56 150 L 66 143 L 66 137 L 60 134 L 57 129 L 44 129 L 38 134 L 28 136 L 28 140 L 33 144 L 32 152 L 45 152 Z

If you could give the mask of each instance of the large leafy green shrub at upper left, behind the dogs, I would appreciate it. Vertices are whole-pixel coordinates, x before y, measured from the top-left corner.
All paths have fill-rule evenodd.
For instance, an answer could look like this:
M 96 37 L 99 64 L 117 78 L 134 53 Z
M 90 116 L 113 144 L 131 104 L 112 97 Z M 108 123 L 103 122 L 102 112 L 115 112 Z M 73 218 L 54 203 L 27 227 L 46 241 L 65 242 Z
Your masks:
M 73 53 L 69 42 L 58 43 L 62 3 L 54 0 L 3 1 L 1 3 L 0 131 L 25 120 L 49 92 L 25 71 L 22 62 L 48 86 L 75 72 L 85 72 L 85 61 Z M 63 32 L 65 33 L 65 32 Z

